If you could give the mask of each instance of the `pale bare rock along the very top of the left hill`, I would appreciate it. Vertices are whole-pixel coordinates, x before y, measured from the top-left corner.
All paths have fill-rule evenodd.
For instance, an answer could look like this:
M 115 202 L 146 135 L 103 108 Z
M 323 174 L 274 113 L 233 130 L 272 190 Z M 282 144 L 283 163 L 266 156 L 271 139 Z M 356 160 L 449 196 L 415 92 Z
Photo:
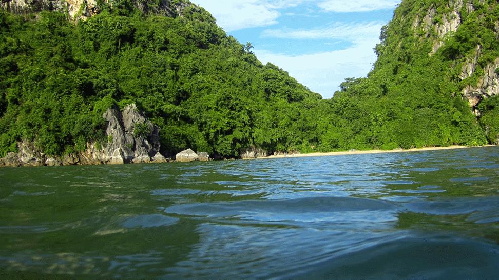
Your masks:
M 15 14 L 40 11 L 59 11 L 67 13 L 71 19 L 78 21 L 86 19 L 102 11 L 96 0 L 2 0 L 0 8 Z M 101 3 L 112 7 L 113 0 L 103 0 Z M 187 1 L 177 2 L 161 0 L 159 5 L 149 5 L 147 1 L 133 1 L 135 8 L 144 13 L 164 16 L 183 16 L 184 9 L 192 6 Z M 194 6 L 193 6 L 194 7 Z

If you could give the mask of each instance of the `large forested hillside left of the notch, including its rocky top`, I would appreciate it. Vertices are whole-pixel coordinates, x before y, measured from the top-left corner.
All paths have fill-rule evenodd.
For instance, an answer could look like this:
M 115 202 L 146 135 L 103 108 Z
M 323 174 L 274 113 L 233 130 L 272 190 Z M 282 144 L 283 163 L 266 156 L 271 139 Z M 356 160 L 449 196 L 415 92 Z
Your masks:
M 320 95 L 188 1 L 87 0 L 75 14 L 71 2 L 21 1 L 4 4 L 18 15 L 0 12 L 0 156 L 22 142 L 53 156 L 106 146 L 103 114 L 130 104 L 159 128 L 164 155 L 297 150 L 309 134 Z

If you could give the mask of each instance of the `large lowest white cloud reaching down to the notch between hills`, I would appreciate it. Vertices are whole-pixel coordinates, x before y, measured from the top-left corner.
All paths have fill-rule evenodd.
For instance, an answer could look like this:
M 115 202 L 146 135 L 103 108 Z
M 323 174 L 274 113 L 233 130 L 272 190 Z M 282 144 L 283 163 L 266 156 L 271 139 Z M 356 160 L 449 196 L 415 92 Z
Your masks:
M 312 91 L 320 93 L 324 98 L 331 98 L 345 78 L 365 77 L 371 71 L 372 64 L 376 61 L 373 48 L 379 43 L 378 34 L 381 25 L 381 23 L 335 24 L 335 27 L 323 32 L 314 29 L 280 33 L 282 37 L 297 39 L 347 39 L 352 43 L 347 49 L 305 55 L 286 55 L 258 49 L 255 53 L 262 63 L 270 62 L 279 66 Z M 358 28 L 355 28 L 356 26 Z M 276 36 L 278 34 L 279 32 L 274 31 L 267 33 Z

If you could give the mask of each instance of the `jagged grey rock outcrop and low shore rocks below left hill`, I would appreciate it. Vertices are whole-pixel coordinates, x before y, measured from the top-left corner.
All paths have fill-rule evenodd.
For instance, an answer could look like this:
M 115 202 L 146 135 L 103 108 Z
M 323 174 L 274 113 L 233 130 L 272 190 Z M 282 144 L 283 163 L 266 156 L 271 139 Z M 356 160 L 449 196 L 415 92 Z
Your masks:
M 51 157 L 29 142 L 17 144 L 18 152 L 0 158 L 0 166 L 54 166 L 95 165 L 124 163 L 162 163 L 167 159 L 159 153 L 159 128 L 139 112 L 135 104 L 123 112 L 109 108 L 103 115 L 107 119 L 107 144 L 87 143 L 87 148 L 62 157 Z

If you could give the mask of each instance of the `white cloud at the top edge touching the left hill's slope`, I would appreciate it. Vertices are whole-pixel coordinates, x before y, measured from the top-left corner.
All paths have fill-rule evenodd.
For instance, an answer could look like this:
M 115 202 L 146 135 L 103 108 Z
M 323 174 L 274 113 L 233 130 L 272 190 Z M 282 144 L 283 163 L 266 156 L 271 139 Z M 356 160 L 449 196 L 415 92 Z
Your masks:
M 193 0 L 217 19 L 226 32 L 277 23 L 279 9 L 295 7 L 303 0 Z

